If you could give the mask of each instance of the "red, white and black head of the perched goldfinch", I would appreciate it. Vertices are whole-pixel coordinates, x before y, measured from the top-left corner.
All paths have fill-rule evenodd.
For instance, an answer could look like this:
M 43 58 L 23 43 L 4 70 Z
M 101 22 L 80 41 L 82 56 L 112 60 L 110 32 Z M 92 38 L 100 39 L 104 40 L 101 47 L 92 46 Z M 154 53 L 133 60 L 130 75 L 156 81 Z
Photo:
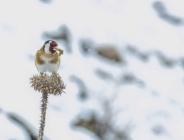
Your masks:
M 57 46 L 58 44 L 56 43 L 56 41 L 47 40 L 43 45 L 43 49 L 45 53 L 53 54 L 57 51 Z

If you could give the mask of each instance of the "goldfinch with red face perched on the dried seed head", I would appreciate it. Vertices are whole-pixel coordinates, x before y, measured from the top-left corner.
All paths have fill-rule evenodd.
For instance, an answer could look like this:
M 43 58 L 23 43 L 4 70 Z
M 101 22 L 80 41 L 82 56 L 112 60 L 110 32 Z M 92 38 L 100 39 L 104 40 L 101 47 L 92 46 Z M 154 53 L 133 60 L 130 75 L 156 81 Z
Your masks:
M 58 48 L 56 41 L 45 41 L 43 46 L 36 51 L 35 65 L 38 72 L 41 75 L 46 72 L 57 73 L 61 55 L 63 55 L 63 50 Z

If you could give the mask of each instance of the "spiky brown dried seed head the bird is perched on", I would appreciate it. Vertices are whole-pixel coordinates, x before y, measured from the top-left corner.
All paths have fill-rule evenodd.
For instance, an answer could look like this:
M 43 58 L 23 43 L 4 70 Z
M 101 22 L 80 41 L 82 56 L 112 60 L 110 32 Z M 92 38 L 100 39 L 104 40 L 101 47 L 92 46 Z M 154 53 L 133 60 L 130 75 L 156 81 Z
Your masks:
M 57 73 L 51 75 L 34 75 L 31 78 L 31 86 L 41 93 L 60 95 L 64 92 L 65 85 L 61 76 Z

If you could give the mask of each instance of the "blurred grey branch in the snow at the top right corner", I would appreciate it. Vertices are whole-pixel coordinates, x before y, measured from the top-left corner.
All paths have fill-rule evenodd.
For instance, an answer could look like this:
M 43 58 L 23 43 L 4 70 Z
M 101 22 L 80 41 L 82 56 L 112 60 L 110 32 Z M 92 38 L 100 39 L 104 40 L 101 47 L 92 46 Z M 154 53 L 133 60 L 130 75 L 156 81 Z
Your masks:
M 184 20 L 180 17 L 170 14 L 168 12 L 168 9 L 165 7 L 165 5 L 161 1 L 154 2 L 153 8 L 157 12 L 158 16 L 161 19 L 167 21 L 168 23 L 175 25 L 175 26 L 184 25 Z

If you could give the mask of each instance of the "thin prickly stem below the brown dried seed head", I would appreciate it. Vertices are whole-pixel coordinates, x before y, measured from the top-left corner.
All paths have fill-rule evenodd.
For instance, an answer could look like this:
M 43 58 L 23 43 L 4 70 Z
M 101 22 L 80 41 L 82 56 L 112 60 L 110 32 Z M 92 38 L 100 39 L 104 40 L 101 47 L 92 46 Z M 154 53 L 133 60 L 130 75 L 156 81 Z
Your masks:
M 48 103 L 48 93 L 42 93 L 41 120 L 40 120 L 38 140 L 43 140 L 44 128 L 45 128 L 45 118 L 46 118 L 46 111 L 47 111 L 47 103 Z

